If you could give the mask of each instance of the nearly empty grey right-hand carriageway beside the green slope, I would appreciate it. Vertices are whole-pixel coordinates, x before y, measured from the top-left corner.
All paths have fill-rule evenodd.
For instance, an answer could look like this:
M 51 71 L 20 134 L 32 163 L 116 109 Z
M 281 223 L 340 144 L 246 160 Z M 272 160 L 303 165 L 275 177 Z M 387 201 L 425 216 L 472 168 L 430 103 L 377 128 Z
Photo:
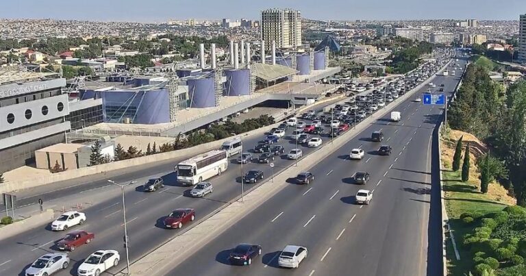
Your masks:
M 458 76 L 460 72 L 457 77 L 438 76 L 434 83 L 443 83 L 451 94 Z M 428 243 L 441 246 L 428 236 L 428 223 L 431 189 L 440 189 L 431 182 L 431 136 L 442 107 L 408 99 L 395 110 L 402 113 L 402 121 L 389 123 L 388 115 L 379 118 L 314 166 L 313 184 L 292 182 L 168 275 L 442 275 L 435 264 L 441 255 L 438 260 L 428 258 Z M 369 142 L 371 132 L 379 129 L 384 142 Z M 377 155 L 380 144 L 391 145 L 392 155 Z M 366 151 L 363 160 L 347 159 L 355 147 Z M 368 184 L 353 183 L 356 171 L 371 173 Z M 354 204 L 361 188 L 373 190 L 370 205 Z M 231 266 L 227 260 L 241 242 L 262 246 L 262 255 L 250 267 Z M 293 271 L 277 268 L 277 256 L 287 244 L 309 251 Z

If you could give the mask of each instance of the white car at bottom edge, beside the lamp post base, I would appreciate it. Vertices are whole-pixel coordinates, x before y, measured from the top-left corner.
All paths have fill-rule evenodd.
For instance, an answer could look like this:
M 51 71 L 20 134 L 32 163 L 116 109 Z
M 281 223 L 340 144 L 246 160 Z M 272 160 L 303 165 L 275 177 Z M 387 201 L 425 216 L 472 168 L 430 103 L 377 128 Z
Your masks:
M 113 266 L 117 266 L 121 256 L 116 250 L 99 250 L 89 255 L 77 269 L 79 276 L 99 276 Z

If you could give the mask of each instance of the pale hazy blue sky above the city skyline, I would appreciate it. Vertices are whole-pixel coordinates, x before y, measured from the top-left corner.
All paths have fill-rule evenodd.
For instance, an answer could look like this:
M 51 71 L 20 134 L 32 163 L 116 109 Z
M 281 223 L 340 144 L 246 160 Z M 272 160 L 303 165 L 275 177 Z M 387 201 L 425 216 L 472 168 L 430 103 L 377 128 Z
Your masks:
M 526 0 L 0 0 L 0 18 L 161 22 L 167 18 L 259 18 L 294 8 L 312 19 L 478 18 L 518 20 Z M 0 26 L 1 27 L 1 26 Z

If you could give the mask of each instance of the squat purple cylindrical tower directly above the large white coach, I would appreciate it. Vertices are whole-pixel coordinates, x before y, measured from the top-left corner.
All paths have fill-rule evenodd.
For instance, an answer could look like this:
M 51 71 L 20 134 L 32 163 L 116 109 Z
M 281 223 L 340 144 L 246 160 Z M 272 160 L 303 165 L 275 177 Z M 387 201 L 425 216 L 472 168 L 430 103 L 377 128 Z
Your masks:
M 190 108 L 213 108 L 216 106 L 215 81 L 213 77 L 188 79 Z

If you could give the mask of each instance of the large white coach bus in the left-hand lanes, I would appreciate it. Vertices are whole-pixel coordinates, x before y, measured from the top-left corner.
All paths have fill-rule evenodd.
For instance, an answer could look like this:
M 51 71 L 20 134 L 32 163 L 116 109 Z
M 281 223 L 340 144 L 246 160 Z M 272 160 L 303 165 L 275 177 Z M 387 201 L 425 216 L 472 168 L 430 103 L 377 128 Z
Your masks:
M 214 175 L 221 175 L 227 168 L 227 151 L 216 149 L 180 162 L 175 166 L 175 171 L 177 171 L 177 182 L 195 185 Z

